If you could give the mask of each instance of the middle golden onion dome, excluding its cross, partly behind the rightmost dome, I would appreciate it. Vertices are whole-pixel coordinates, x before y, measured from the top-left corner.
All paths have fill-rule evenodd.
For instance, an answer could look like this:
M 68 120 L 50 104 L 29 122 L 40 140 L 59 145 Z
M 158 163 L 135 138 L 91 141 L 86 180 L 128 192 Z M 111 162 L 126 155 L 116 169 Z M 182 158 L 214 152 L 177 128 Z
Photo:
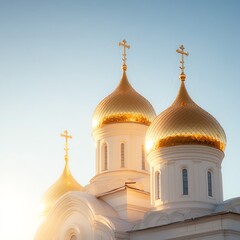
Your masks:
M 149 126 L 155 117 L 152 105 L 135 91 L 123 69 L 118 87 L 96 107 L 92 125 L 93 129 L 105 124 L 126 122 Z

